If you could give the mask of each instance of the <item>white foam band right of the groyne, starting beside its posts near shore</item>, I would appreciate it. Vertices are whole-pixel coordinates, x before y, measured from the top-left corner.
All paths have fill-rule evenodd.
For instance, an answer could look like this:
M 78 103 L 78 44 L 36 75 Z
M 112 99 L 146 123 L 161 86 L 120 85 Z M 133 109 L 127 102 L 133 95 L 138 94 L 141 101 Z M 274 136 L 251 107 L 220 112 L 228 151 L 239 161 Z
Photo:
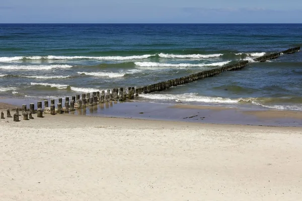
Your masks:
M 162 100 L 176 100 L 179 99 L 181 102 L 202 102 L 202 103 L 225 103 L 232 104 L 238 103 L 236 99 L 222 98 L 222 97 L 207 97 L 199 96 L 197 93 L 184 93 L 184 94 L 140 94 L 139 96 L 148 99 L 162 99 Z

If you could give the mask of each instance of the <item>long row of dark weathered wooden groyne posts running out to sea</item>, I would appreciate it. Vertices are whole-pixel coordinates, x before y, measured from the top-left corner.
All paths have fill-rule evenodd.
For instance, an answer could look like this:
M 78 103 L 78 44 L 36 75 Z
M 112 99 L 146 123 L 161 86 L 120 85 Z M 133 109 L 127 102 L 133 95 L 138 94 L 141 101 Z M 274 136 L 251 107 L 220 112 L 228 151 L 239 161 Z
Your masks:
M 254 61 L 257 62 L 264 62 L 266 60 L 270 59 L 275 59 L 279 57 L 282 54 L 291 54 L 298 52 L 300 50 L 300 47 L 295 47 L 295 48 L 290 48 L 287 50 L 284 50 L 282 52 L 276 52 L 272 53 L 269 55 L 264 55 L 261 57 L 257 57 L 254 59 Z M 70 111 L 74 110 L 82 110 L 85 109 L 86 107 L 93 107 L 98 104 L 104 104 L 104 103 L 112 103 L 112 101 L 119 101 L 123 102 L 127 99 L 133 99 L 134 96 L 139 96 L 141 93 L 152 93 L 155 91 L 163 91 L 166 90 L 172 86 L 177 86 L 181 84 L 186 84 L 189 82 L 193 82 L 199 79 L 203 79 L 206 77 L 211 77 L 214 75 L 217 75 L 219 73 L 222 73 L 224 71 L 232 71 L 232 70 L 240 70 L 243 67 L 245 67 L 249 61 L 244 60 L 244 61 L 239 61 L 234 64 L 222 66 L 219 68 L 213 68 L 210 70 L 198 72 L 198 73 L 193 73 L 188 76 L 183 76 L 180 78 L 175 78 L 175 79 L 170 79 L 167 81 L 162 81 L 158 82 L 155 84 L 149 84 L 146 86 L 141 86 L 141 87 L 128 87 L 128 88 L 114 88 L 112 90 L 107 89 L 102 91 L 95 91 L 92 93 L 83 93 L 82 96 L 80 94 L 77 94 L 75 96 L 71 97 L 71 101 L 69 102 L 69 97 L 65 97 L 65 103 L 62 105 L 62 98 L 58 99 L 57 107 L 55 107 L 55 100 L 51 99 L 50 100 L 50 107 L 48 107 L 48 100 L 44 101 L 44 110 L 42 110 L 42 102 L 39 101 L 37 103 L 37 110 L 35 110 L 35 106 L 33 103 L 29 105 L 29 109 L 27 109 L 26 105 L 22 106 L 22 116 L 23 120 L 29 120 L 29 119 L 34 119 L 32 117 L 32 114 L 36 113 L 38 118 L 43 118 L 43 112 L 44 113 L 49 113 L 51 115 L 55 114 L 63 114 L 63 113 L 69 113 Z M 82 99 L 80 99 L 82 97 Z M 65 106 L 65 107 L 63 107 Z M 16 108 L 16 113 L 14 114 L 14 121 L 18 122 L 19 121 L 19 109 Z M 7 110 L 7 118 L 12 118 L 10 114 L 10 110 Z M 4 113 L 1 113 L 1 119 L 5 119 Z

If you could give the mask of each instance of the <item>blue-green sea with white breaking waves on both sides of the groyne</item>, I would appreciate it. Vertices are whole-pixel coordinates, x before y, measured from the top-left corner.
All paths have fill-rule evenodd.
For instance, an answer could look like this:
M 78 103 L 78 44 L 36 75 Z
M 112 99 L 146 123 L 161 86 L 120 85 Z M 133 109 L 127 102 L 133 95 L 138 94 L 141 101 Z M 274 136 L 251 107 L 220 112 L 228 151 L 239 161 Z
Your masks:
M 0 97 L 144 86 L 251 61 L 135 101 L 302 111 L 302 24 L 0 24 Z

